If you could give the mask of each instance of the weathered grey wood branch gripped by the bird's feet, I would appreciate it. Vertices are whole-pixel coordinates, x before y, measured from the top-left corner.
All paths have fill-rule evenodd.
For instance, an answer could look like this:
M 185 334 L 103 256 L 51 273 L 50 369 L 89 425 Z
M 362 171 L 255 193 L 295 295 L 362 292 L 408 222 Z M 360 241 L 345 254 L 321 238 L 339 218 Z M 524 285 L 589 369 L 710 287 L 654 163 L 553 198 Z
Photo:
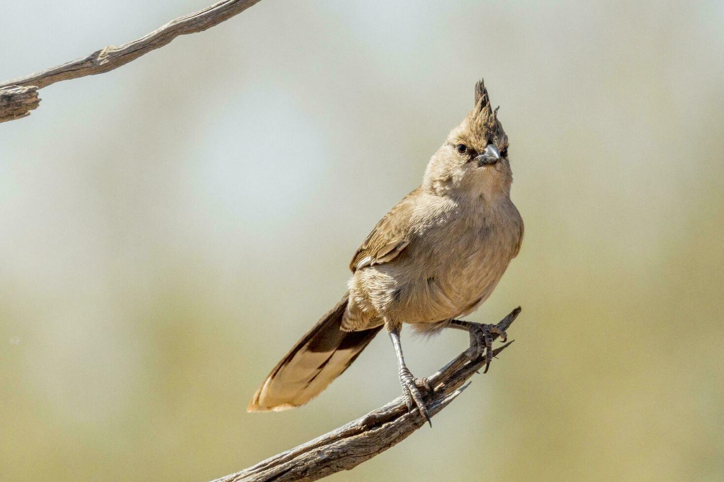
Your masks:
M 508 330 L 520 312 L 518 306 L 497 326 Z M 497 355 L 510 343 L 513 342 L 493 353 Z M 485 364 L 483 358 L 471 359 L 473 357 L 476 357 L 475 349 L 468 348 L 429 378 L 434 391 L 425 396 L 425 403 L 431 417 L 455 400 L 468 387 L 468 379 Z M 371 459 L 402 442 L 425 423 L 419 410 L 408 412 L 400 396 L 338 429 L 214 482 L 316 481 Z

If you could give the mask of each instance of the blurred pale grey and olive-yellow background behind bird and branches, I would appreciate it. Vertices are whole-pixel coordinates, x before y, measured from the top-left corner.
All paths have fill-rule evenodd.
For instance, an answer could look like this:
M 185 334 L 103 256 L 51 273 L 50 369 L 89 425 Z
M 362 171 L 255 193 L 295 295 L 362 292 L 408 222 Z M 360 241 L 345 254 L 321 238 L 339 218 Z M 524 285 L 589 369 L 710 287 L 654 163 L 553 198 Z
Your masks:
M 208 0 L 10 2 L 0 79 Z M 724 479 L 724 4 L 264 0 L 0 125 L 1 478 L 204 481 L 400 394 L 378 337 L 248 414 L 484 77 L 526 239 L 515 344 L 337 481 Z M 425 376 L 468 343 L 403 333 Z

